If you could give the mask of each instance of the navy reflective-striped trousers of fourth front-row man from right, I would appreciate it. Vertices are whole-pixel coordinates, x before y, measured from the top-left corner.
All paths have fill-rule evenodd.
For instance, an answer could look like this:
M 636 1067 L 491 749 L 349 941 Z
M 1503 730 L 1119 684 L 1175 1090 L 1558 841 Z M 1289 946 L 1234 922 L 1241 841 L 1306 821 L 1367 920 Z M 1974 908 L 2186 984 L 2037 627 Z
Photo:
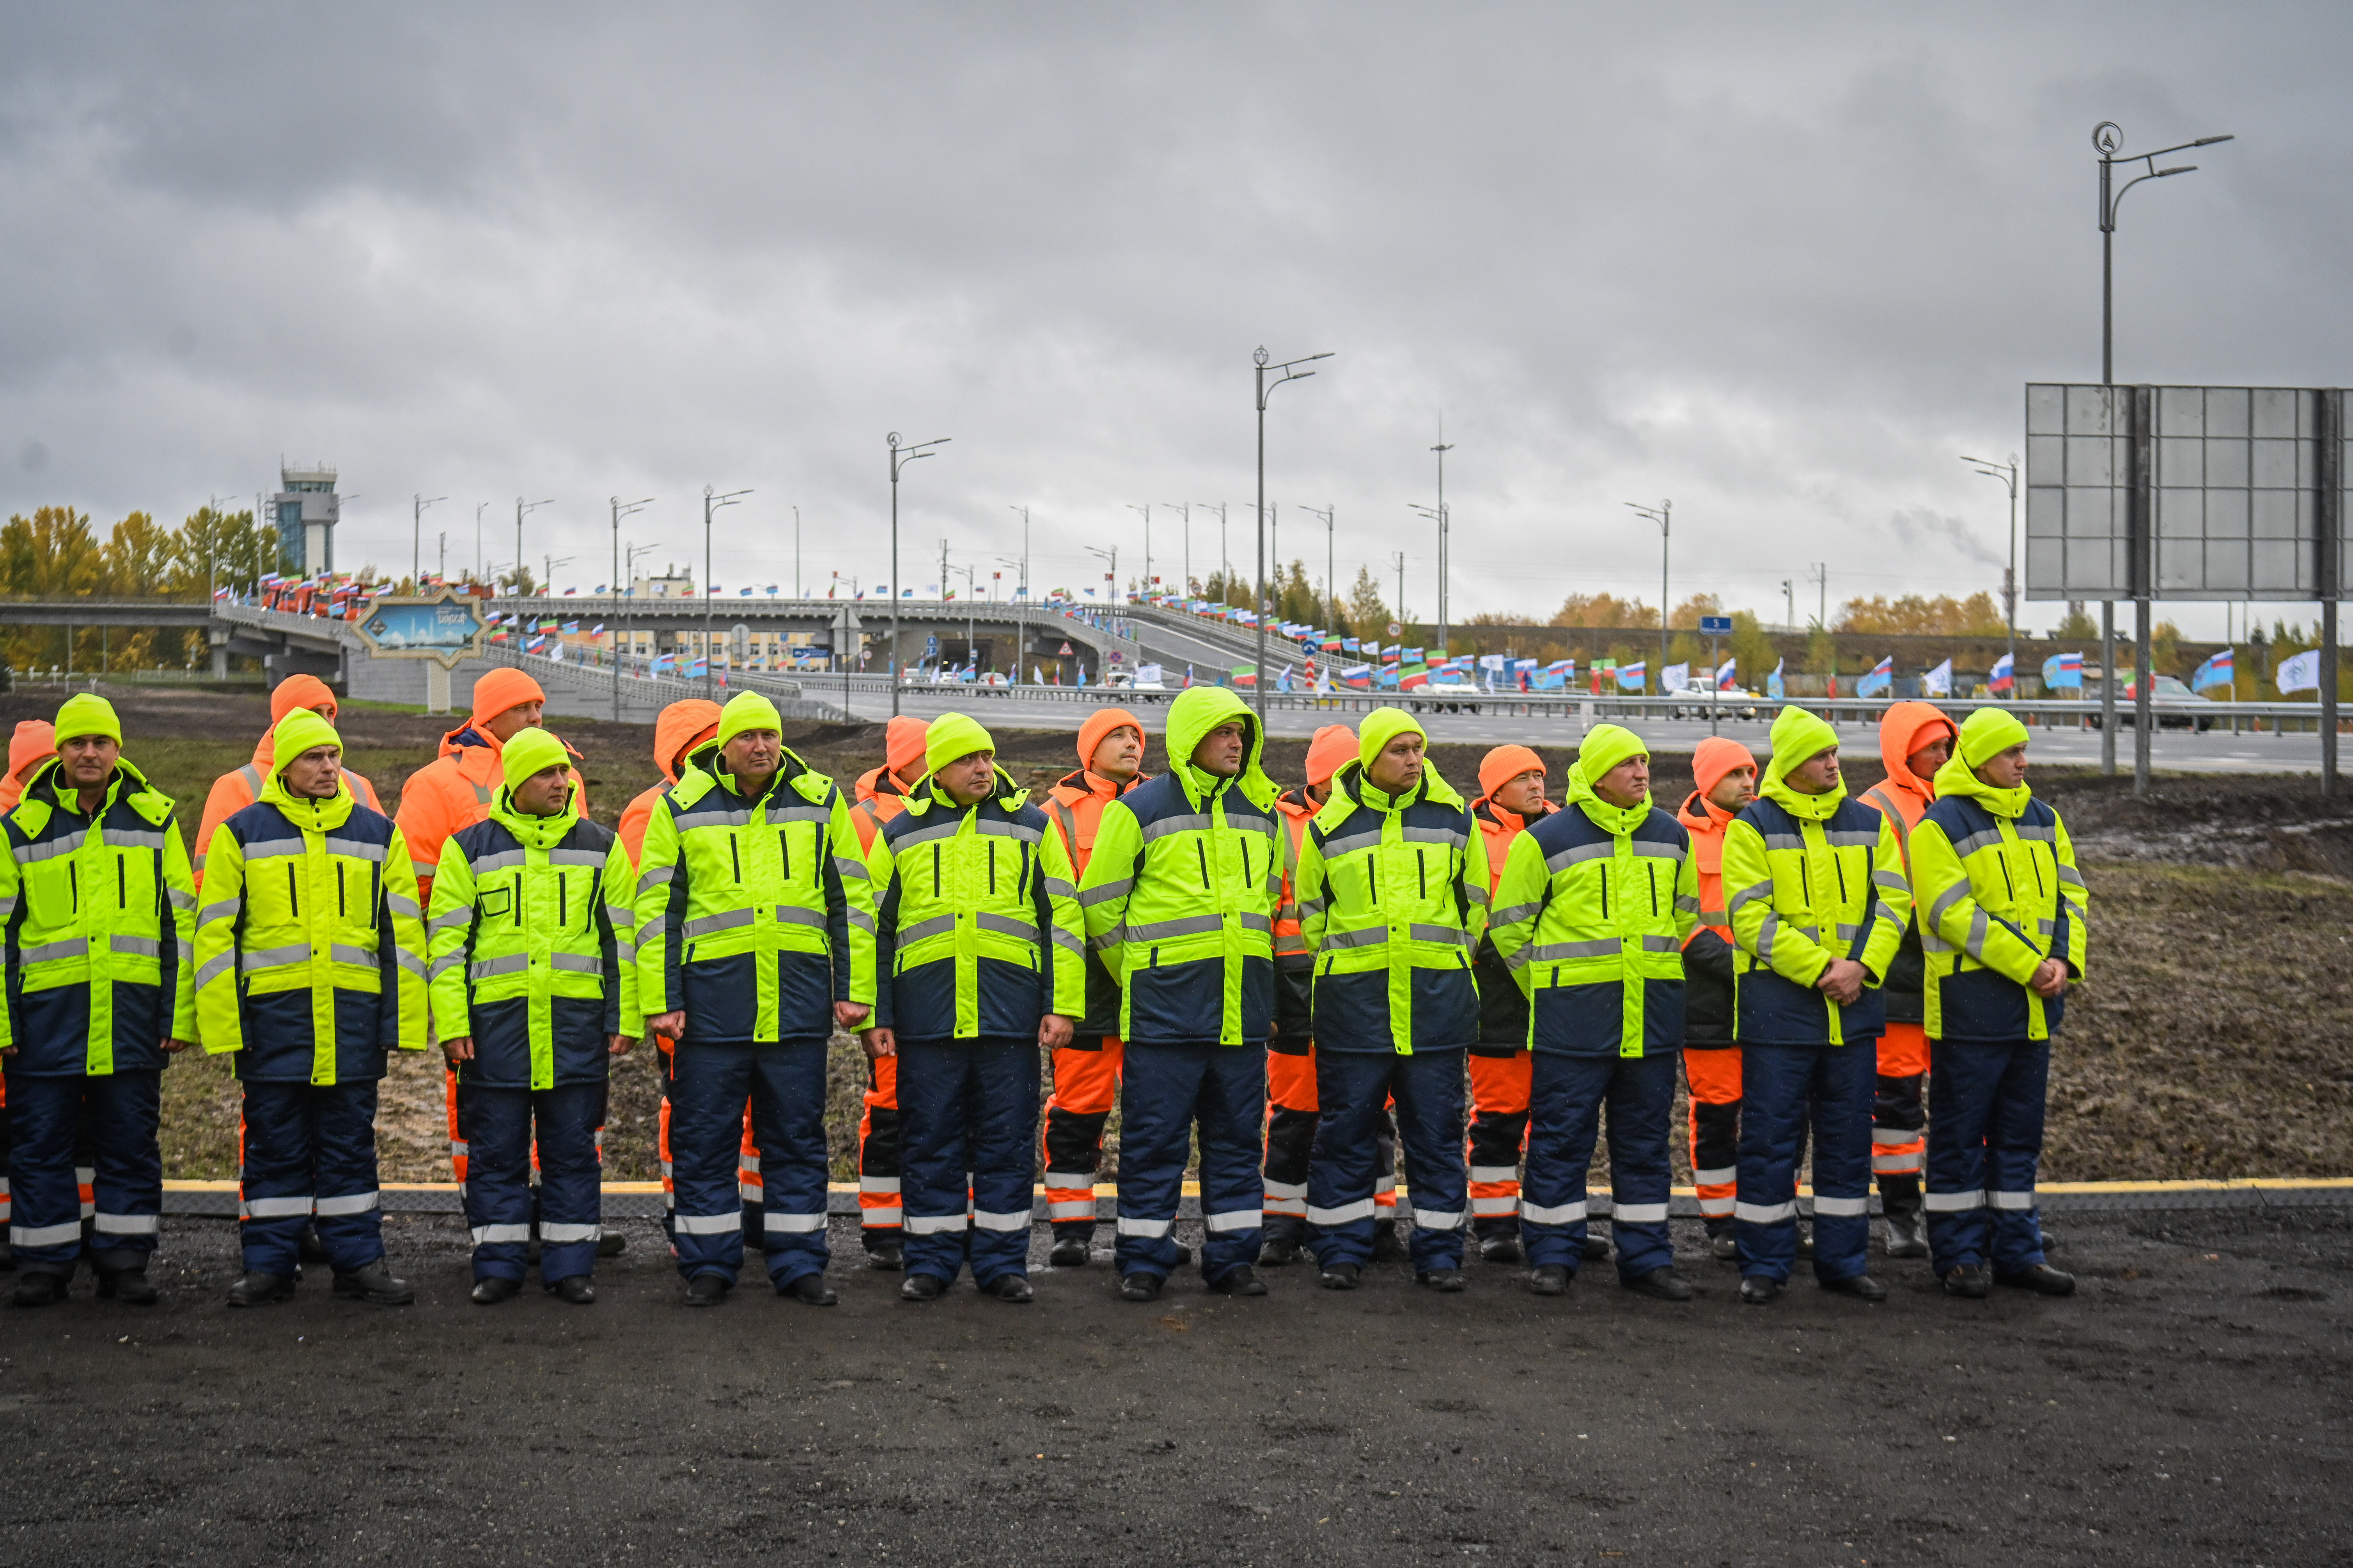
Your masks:
M 1318 1267 L 1372 1262 L 1381 1124 L 1398 1100 L 1405 1185 L 1414 1199 L 1414 1269 L 1459 1269 L 1471 1166 L 1464 1159 L 1464 1048 L 1315 1051 L 1315 1152 L 1308 1157 L 1308 1246 Z

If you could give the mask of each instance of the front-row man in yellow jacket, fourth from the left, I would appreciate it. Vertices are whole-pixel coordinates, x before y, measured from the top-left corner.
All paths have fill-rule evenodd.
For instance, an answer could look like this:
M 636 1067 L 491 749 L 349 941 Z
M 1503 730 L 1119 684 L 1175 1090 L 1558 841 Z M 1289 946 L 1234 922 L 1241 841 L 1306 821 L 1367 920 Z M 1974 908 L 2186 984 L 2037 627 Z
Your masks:
M 875 994 L 873 882 L 849 797 L 784 745 L 758 691 L 720 710 L 654 804 L 638 872 L 638 1006 L 671 1053 L 671 1166 L 687 1302 L 715 1307 L 744 1267 L 744 1100 L 760 1145 L 767 1276 L 826 1284 L 826 1041 Z

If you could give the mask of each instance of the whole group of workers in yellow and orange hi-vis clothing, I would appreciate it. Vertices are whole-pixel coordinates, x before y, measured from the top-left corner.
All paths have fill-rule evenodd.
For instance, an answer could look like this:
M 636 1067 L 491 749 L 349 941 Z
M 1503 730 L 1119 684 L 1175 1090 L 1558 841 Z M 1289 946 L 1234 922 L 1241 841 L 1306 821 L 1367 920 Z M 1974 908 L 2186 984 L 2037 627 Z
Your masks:
M 845 790 L 746 691 L 664 710 L 664 780 L 619 832 L 588 818 L 518 670 L 475 682 L 398 816 L 334 719 L 325 684 L 280 682 L 193 860 L 106 701 L 19 726 L 0 785 L 16 1305 L 61 1300 L 82 1258 L 101 1295 L 155 1300 L 160 1074 L 191 1044 L 233 1053 L 242 1091 L 231 1305 L 292 1295 L 304 1258 L 339 1295 L 412 1300 L 384 1253 L 376 1084 L 433 1041 L 473 1300 L 536 1265 L 593 1302 L 619 1251 L 598 1197 L 609 1065 L 647 1037 L 687 1305 L 722 1302 L 746 1248 L 779 1295 L 831 1305 L 838 1030 L 868 1060 L 866 1255 L 915 1302 L 965 1269 L 1031 1300 L 1040 1171 L 1049 1258 L 1087 1265 L 1113 1110 L 1125 1300 L 1195 1262 L 1174 1237 L 1195 1152 L 1212 1291 L 1264 1295 L 1259 1269 L 1304 1253 L 1334 1291 L 1384 1255 L 1461 1291 L 1468 1234 L 1539 1295 L 1614 1253 L 1624 1286 L 1689 1300 L 1678 1058 L 1708 1251 L 1741 1300 L 1774 1300 L 1800 1258 L 1882 1300 L 1873 1185 L 1887 1255 L 1927 1255 L 1948 1293 L 2073 1291 L 2042 1255 L 2035 1168 L 2085 884 L 1998 708 L 1894 705 L 1861 797 L 1838 731 L 1786 708 L 1762 766 L 1711 738 L 1664 809 L 1617 724 L 1586 731 L 1558 804 L 1522 745 L 1466 802 L 1398 708 L 1318 731 L 1285 792 L 1214 686 L 1172 703 L 1158 776 L 1144 722 L 1104 708 L 1033 797 L 951 712 L 894 719 Z M 1586 1194 L 1602 1135 L 1607 1241 Z

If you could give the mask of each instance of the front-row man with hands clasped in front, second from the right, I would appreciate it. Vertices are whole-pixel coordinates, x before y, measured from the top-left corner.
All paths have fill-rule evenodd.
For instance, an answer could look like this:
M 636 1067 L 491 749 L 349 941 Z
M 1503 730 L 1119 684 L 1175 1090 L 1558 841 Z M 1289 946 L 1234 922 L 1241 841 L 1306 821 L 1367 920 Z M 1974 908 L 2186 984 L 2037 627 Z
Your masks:
M 1897 832 L 1847 799 L 1838 731 L 1802 708 L 1772 724 L 1765 785 L 1725 827 L 1734 1037 L 1741 1046 L 1741 1300 L 1765 1305 L 1798 1255 L 1798 1152 L 1814 1143 L 1814 1279 L 1885 1300 L 1871 1279 L 1871 1095 L 1880 985 L 1911 886 Z

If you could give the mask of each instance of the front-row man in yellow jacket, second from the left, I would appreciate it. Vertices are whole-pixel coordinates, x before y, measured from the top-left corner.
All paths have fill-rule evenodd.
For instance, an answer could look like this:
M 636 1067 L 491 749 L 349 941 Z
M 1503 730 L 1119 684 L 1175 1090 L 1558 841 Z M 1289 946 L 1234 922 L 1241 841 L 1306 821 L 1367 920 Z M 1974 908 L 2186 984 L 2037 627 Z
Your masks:
M 416 872 L 393 818 L 351 797 L 327 719 L 296 708 L 273 741 L 261 797 L 212 835 L 195 917 L 198 1030 L 245 1088 L 228 1305 L 294 1293 L 315 1213 L 334 1293 L 398 1307 L 414 1293 L 384 1267 L 376 1081 L 386 1051 L 426 1048 Z

